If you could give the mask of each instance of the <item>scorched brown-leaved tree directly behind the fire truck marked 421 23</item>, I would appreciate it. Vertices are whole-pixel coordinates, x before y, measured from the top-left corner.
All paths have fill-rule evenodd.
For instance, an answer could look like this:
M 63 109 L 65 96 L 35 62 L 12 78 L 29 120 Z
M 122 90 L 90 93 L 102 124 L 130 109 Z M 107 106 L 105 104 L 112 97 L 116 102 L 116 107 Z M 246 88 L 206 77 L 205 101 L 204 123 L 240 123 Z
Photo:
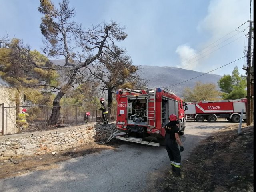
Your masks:
M 132 59 L 126 50 L 114 46 L 103 53 L 99 60 L 92 63 L 90 80 L 99 81 L 102 91 L 108 92 L 108 107 L 111 107 L 113 94 L 118 88 L 136 88 L 145 82 L 138 74 L 139 66 L 132 65 Z

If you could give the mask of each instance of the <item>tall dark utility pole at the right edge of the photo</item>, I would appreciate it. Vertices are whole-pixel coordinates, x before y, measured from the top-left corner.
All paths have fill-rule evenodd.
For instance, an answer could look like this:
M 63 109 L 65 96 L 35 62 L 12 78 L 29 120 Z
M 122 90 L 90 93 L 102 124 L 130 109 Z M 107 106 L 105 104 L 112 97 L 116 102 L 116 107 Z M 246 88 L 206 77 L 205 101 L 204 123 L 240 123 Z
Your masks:
M 246 108 L 246 124 L 251 125 L 252 122 L 252 92 L 251 92 L 251 49 L 252 49 L 252 21 L 250 20 L 248 53 L 247 53 L 247 108 Z

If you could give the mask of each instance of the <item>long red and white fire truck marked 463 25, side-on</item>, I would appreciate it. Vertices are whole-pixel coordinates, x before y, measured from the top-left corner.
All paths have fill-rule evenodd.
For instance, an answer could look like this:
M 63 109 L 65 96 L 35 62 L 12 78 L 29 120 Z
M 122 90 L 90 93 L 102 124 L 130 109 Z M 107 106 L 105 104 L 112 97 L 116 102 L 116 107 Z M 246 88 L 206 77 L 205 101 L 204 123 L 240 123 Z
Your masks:
M 245 99 L 220 100 L 220 101 L 202 101 L 187 102 L 185 114 L 187 119 L 194 119 L 197 122 L 216 122 L 217 118 L 226 118 L 226 120 L 238 123 L 240 117 L 246 120 L 246 103 Z M 241 114 L 243 109 L 243 113 Z

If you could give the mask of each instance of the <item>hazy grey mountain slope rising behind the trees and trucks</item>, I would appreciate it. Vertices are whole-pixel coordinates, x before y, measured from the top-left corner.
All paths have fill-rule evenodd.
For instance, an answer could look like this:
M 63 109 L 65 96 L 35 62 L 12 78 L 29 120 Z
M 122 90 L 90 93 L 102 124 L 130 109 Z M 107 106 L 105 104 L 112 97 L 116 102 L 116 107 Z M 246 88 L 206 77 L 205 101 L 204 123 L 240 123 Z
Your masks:
M 51 61 L 56 65 L 61 65 L 65 62 L 64 60 Z M 165 87 L 172 90 L 178 96 L 182 96 L 182 91 L 185 87 L 194 87 L 197 81 L 200 81 L 202 83 L 214 83 L 217 85 L 218 80 L 222 77 L 220 75 L 204 74 L 202 72 L 186 70 L 176 67 L 158 67 L 147 65 L 140 66 L 139 74 L 141 75 L 142 78 L 147 80 L 148 88 Z M 199 77 L 196 78 L 197 76 Z M 188 81 L 184 82 L 186 80 Z M 174 84 L 178 85 L 172 86 Z

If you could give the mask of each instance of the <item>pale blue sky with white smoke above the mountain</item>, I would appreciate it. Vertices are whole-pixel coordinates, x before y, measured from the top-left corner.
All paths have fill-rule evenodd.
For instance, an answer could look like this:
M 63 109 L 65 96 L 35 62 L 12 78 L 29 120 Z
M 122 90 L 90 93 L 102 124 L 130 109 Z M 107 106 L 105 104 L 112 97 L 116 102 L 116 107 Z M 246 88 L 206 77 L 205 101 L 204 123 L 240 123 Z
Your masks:
M 58 8 L 60 0 L 52 2 Z M 39 6 L 39 0 L 0 0 L 0 37 L 22 39 L 42 52 Z M 218 75 L 237 66 L 245 75 L 250 0 L 70 0 L 70 7 L 84 29 L 110 20 L 126 26 L 128 36 L 118 46 L 134 65 Z

